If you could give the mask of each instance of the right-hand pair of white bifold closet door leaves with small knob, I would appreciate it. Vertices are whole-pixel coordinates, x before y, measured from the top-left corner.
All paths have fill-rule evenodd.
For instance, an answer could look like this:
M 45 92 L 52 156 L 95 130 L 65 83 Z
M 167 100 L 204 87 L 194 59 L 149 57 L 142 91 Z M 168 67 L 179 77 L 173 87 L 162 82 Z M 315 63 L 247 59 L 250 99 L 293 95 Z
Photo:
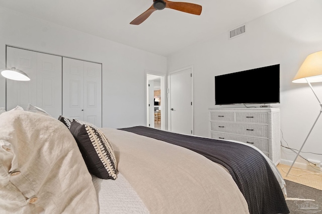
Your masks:
M 102 65 L 63 57 L 63 115 L 102 127 Z

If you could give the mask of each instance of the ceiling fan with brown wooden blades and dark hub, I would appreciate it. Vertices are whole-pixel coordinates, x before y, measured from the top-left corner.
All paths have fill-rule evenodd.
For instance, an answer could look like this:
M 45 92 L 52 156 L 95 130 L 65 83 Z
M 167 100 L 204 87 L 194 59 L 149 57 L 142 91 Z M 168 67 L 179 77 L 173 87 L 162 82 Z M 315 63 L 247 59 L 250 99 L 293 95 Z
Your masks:
M 144 22 L 154 11 L 170 8 L 173 10 L 185 12 L 188 14 L 200 15 L 202 7 L 200 5 L 186 3 L 186 2 L 170 2 L 168 0 L 153 0 L 152 6 L 143 14 L 135 18 L 130 24 L 139 25 Z

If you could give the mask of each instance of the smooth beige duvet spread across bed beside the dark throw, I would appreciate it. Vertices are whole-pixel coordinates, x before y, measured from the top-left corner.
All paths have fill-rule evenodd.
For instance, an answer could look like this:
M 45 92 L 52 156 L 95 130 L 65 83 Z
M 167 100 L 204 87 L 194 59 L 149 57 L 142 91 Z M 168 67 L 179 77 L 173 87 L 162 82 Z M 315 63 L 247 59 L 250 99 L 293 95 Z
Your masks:
M 186 148 L 112 128 L 118 171 L 150 213 L 249 213 L 229 173 Z

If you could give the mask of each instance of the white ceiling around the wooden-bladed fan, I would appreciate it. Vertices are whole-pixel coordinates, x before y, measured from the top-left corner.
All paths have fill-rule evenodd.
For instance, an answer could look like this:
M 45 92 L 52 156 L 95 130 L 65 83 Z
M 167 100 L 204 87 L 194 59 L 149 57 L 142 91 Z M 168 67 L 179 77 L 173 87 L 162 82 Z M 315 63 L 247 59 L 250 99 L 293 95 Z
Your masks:
M 201 5 L 201 15 L 166 8 L 137 26 L 129 23 L 146 11 L 152 0 L 1 0 L 0 7 L 168 56 L 294 1 L 181 0 Z

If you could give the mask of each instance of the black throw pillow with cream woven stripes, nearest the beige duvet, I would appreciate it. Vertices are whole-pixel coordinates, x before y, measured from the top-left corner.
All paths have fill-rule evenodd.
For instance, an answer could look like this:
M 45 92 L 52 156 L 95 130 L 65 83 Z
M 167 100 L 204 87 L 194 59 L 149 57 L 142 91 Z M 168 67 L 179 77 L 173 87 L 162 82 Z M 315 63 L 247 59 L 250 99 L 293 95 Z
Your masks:
M 116 179 L 114 150 L 103 134 L 93 124 L 73 120 L 69 128 L 83 155 L 89 172 L 103 179 Z

